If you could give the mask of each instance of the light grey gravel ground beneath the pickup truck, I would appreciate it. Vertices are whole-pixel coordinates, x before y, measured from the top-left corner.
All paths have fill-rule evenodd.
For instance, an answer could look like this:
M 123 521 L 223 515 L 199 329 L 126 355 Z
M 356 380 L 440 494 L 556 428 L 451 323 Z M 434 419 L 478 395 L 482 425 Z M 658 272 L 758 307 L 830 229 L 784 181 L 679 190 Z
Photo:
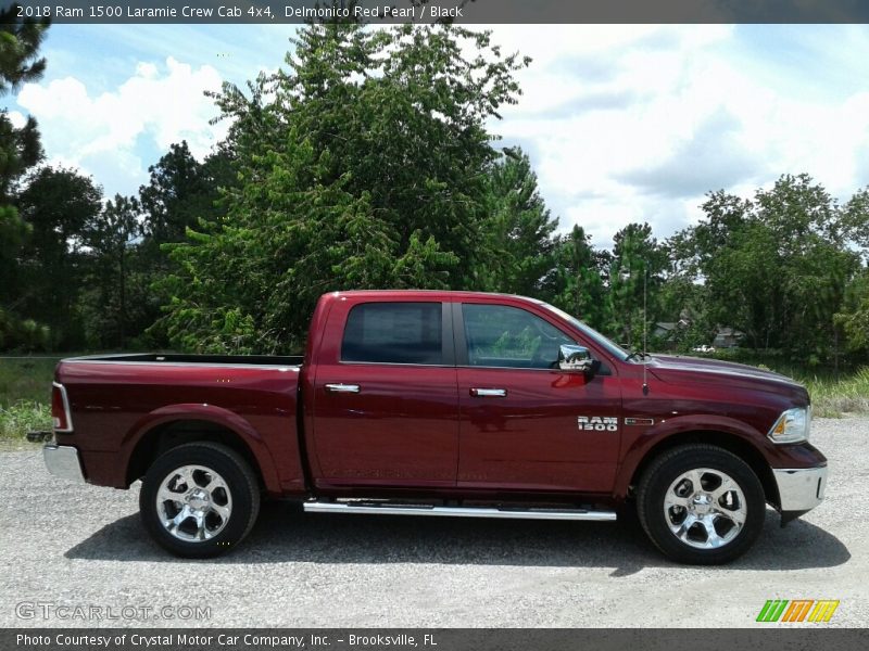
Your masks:
M 830 459 L 827 501 L 784 529 L 769 511 L 757 545 L 725 567 L 670 563 L 635 519 L 304 514 L 281 502 L 264 505 L 230 556 L 179 561 L 140 527 L 136 487 L 54 480 L 40 450 L 3 451 L 0 626 L 741 627 L 758 625 L 764 602 L 779 598 L 839 599 L 829 625 L 862 627 L 869 419 L 819 419 L 813 427 Z M 33 618 L 16 615 L 34 602 L 111 607 L 118 618 L 87 621 L 75 611 L 72 620 L 43 618 L 41 607 Z M 125 618 L 133 611 L 124 607 L 211 612 L 139 621 Z

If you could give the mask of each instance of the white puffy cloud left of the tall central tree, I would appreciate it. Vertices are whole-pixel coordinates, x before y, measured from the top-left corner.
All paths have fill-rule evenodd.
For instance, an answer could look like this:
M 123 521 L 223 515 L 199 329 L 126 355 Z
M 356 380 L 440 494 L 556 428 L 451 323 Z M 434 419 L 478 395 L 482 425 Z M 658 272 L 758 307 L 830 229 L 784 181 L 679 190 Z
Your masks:
M 219 90 L 221 76 L 167 58 L 164 66 L 140 62 L 111 92 L 89 92 L 73 76 L 45 85 L 28 84 L 17 103 L 39 122 L 42 144 L 52 162 L 92 174 L 110 192 L 134 192 L 147 177 L 141 150 L 165 152 L 187 140 L 193 155 L 204 156 L 226 131 L 210 125 L 215 115 L 205 90 Z M 144 145 L 144 146 L 142 146 Z

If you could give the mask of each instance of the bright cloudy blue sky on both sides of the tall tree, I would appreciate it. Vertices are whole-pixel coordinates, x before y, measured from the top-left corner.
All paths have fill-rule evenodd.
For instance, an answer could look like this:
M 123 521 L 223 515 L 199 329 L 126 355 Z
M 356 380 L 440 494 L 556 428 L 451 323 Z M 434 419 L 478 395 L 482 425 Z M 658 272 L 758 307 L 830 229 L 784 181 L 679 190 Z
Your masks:
M 533 58 L 491 125 L 531 155 L 562 229 L 608 246 L 629 221 L 666 237 L 708 190 L 750 195 L 807 171 L 842 200 L 869 184 L 867 26 L 494 26 Z M 226 125 L 202 95 L 282 65 L 291 25 L 55 25 L 48 71 L 10 111 L 50 162 L 135 193 L 172 142 L 202 156 Z M 5 98 L 9 100 L 9 98 Z M 18 116 L 18 118 L 21 118 Z

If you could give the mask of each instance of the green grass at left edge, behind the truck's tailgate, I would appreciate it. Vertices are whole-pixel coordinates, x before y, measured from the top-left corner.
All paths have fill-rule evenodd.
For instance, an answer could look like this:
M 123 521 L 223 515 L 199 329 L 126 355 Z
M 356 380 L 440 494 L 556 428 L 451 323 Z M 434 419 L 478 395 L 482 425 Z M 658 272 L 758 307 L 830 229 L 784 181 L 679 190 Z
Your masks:
M 51 380 L 59 357 L 0 357 L 0 438 L 51 429 Z

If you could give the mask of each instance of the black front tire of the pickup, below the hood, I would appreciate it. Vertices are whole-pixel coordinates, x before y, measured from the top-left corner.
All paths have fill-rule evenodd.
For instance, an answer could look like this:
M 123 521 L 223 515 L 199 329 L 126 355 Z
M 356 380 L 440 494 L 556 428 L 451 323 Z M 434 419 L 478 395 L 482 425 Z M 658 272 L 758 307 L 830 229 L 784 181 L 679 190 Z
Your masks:
M 695 489 L 685 473 L 700 469 L 709 472 L 693 475 L 701 483 Z M 725 476 L 736 489 L 716 500 L 715 490 L 723 485 Z M 716 478 L 720 480 L 717 487 Z M 676 505 L 665 510 L 665 499 L 668 503 L 684 500 L 688 506 Z M 710 511 L 717 514 L 710 515 Z M 742 556 L 754 544 L 764 528 L 766 500 L 760 481 L 742 459 L 713 445 L 685 445 L 664 452 L 643 473 L 637 492 L 637 512 L 652 542 L 672 560 L 717 565 Z M 697 516 L 707 521 L 690 524 Z M 743 522 L 738 524 L 739 520 Z M 679 532 L 675 533 L 671 526 Z M 720 546 L 704 547 L 709 545 Z

